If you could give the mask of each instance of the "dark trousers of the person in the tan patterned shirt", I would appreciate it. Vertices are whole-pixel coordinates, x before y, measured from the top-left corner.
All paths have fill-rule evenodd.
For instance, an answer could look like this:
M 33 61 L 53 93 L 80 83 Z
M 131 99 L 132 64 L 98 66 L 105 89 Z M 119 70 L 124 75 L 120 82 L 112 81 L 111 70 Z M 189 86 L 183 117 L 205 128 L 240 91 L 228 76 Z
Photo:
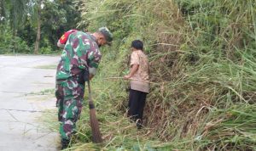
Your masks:
M 128 116 L 131 117 L 131 120 L 137 122 L 137 126 L 139 128 L 143 123 L 143 109 L 145 106 L 147 94 L 147 92 L 140 92 L 132 89 L 130 89 L 129 93 Z

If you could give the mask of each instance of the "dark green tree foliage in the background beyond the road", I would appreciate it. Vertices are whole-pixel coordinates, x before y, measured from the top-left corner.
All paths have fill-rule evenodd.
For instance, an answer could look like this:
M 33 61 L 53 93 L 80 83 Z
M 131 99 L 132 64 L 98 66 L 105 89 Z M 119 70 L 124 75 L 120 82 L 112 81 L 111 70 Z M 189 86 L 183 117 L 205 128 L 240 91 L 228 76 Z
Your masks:
M 41 10 L 41 39 L 39 53 L 55 53 L 56 42 L 64 31 L 77 27 L 80 13 L 72 0 L 1 0 L 1 32 L 11 34 L 2 36 L 0 53 L 32 53 L 37 35 L 38 8 Z M 10 28 L 9 28 L 10 26 Z M 19 41 L 16 41 L 19 39 Z M 5 43 L 6 42 L 6 43 Z M 26 45 L 26 50 L 22 47 Z M 15 45 L 14 45 L 15 44 Z M 12 47 L 15 46 L 15 47 Z M 40 50 L 41 49 L 41 50 Z

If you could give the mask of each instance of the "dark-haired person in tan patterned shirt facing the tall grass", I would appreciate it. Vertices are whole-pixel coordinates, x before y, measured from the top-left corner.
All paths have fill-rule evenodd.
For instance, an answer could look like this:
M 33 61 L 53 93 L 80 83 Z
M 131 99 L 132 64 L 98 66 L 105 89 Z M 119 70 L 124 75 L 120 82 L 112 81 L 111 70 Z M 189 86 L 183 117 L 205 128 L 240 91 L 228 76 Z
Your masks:
M 148 84 L 148 57 L 143 53 L 143 42 L 135 40 L 131 42 L 131 69 L 125 79 L 130 79 L 131 89 L 129 93 L 128 116 L 137 123 L 137 128 L 142 128 L 143 109 L 147 94 Z

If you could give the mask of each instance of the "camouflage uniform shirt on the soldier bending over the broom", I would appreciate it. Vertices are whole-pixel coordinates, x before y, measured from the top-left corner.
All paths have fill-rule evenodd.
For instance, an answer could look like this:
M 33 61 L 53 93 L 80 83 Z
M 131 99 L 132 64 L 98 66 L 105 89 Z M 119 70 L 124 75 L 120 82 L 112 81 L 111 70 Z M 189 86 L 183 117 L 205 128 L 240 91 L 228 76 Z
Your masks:
M 95 36 L 82 31 L 75 31 L 68 36 L 67 43 L 57 66 L 56 80 L 63 81 L 79 76 L 84 70 L 96 74 L 96 68 L 102 55 L 96 43 Z

